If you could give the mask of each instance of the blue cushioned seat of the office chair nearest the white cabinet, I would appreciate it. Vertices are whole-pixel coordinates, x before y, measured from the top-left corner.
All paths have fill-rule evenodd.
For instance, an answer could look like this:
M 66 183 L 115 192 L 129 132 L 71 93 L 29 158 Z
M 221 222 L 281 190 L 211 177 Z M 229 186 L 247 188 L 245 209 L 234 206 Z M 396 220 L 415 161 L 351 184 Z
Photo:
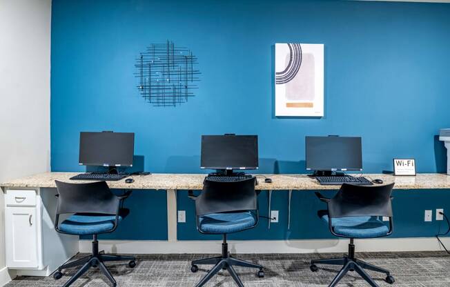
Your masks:
M 119 212 L 119 222 L 128 212 Z M 94 235 L 113 230 L 115 215 L 75 213 L 59 224 L 59 230 L 72 235 Z

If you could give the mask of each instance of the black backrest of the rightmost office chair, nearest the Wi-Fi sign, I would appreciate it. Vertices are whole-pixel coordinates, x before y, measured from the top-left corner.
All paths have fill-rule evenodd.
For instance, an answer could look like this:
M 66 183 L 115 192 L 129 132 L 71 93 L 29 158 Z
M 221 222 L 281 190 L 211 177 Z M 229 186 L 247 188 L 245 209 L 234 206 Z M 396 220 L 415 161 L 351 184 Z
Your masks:
M 392 217 L 393 186 L 394 184 L 384 186 L 342 184 L 339 192 L 328 202 L 329 217 Z

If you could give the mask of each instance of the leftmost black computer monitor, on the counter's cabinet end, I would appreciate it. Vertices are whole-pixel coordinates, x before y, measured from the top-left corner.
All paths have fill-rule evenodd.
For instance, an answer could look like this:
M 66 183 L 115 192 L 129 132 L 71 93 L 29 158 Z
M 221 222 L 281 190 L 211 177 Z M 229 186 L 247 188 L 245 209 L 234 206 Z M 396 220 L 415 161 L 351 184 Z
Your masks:
M 133 132 L 80 132 L 79 165 L 133 166 Z

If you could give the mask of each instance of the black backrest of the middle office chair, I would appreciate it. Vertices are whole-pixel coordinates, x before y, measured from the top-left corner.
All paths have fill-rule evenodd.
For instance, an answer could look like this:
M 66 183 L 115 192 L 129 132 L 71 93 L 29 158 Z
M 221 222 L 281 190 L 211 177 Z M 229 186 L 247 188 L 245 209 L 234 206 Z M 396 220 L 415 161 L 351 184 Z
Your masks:
M 197 217 L 211 213 L 257 210 L 256 178 L 242 181 L 205 179 L 202 194 L 195 199 Z

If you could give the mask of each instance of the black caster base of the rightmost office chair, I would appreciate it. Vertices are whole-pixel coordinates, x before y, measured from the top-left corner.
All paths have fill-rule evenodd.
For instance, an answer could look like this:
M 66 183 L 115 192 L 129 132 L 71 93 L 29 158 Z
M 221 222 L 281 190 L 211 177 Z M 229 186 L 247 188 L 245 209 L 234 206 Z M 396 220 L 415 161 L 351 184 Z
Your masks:
M 332 259 L 313 259 L 311 260 L 310 269 L 313 272 L 318 270 L 315 264 L 329 264 L 329 265 L 342 265 L 342 269 L 337 273 L 336 277 L 331 281 L 329 287 L 337 286 L 339 281 L 348 273 L 349 271 L 356 271 L 367 283 L 372 287 L 379 287 L 378 284 L 373 281 L 373 279 L 366 273 L 366 270 L 371 270 L 379 273 L 384 273 L 387 275 L 385 281 L 389 284 L 393 284 L 395 282 L 394 277 L 391 276 L 389 270 L 384 268 L 380 268 L 378 266 L 374 266 L 372 264 L 366 263 L 360 259 L 355 258 L 355 245 L 353 244 L 353 239 L 350 239 L 349 244 L 349 255 L 342 258 L 332 258 Z

